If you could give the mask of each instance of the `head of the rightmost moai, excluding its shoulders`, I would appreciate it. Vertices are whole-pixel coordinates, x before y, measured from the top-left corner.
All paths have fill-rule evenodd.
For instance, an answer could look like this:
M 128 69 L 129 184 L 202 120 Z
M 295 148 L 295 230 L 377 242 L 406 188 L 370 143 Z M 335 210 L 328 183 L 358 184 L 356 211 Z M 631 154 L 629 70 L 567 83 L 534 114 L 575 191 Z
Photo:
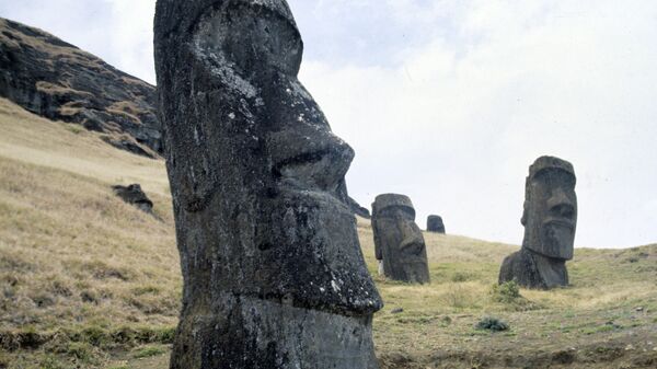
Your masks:
M 577 226 L 573 164 L 541 157 L 529 168 L 525 185 L 522 247 L 549 258 L 573 258 Z

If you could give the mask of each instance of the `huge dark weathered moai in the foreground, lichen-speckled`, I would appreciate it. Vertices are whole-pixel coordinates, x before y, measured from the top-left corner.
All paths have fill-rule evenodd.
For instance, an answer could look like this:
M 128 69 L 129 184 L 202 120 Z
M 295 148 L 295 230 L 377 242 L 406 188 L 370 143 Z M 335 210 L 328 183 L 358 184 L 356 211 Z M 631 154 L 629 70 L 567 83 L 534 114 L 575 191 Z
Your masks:
M 382 307 L 339 199 L 351 148 L 297 79 L 284 0 L 158 0 L 184 277 L 172 369 L 377 368 Z

